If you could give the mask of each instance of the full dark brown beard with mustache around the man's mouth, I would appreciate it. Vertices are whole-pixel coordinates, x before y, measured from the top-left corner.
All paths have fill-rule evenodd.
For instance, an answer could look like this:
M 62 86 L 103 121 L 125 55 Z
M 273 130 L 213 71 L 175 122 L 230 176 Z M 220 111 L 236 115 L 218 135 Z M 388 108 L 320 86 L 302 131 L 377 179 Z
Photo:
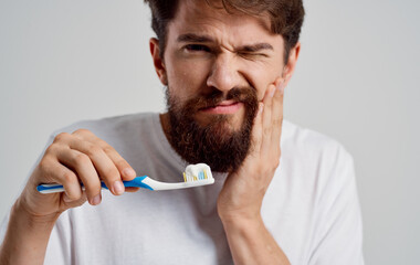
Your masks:
M 216 172 L 234 172 L 251 148 L 251 131 L 259 100 L 252 87 L 235 87 L 224 96 L 214 89 L 181 103 L 166 89 L 169 130 L 168 140 L 188 163 L 203 162 Z M 214 107 L 223 100 L 242 103 L 244 116 L 239 129 L 231 124 L 232 115 L 209 115 L 200 125 L 195 115 L 203 108 Z

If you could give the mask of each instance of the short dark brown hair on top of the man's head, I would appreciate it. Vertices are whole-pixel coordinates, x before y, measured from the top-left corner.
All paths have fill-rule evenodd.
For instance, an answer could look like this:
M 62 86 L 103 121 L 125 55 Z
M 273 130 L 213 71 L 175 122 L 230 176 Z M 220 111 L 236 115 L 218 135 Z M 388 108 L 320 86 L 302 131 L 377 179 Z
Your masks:
M 151 28 L 159 39 L 160 55 L 166 46 L 168 23 L 175 18 L 179 0 L 145 0 L 151 9 Z M 209 6 L 217 8 L 211 0 Z M 294 47 L 301 34 L 305 15 L 302 0 L 221 0 L 222 8 L 229 13 L 240 11 L 250 15 L 260 17 L 267 13 L 271 21 L 271 31 L 284 39 L 284 61 L 287 63 L 288 52 Z

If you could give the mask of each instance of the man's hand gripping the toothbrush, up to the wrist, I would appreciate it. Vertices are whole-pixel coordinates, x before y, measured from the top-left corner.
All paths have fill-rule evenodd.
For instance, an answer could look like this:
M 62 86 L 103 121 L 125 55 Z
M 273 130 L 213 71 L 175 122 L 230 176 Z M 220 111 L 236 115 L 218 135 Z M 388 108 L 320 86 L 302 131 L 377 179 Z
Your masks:
M 62 132 L 46 148 L 18 202 L 33 216 L 55 219 L 86 200 L 92 205 L 101 203 L 101 179 L 114 195 L 119 195 L 125 191 L 122 181 L 135 177 L 128 162 L 90 130 Z M 84 183 L 83 190 L 80 181 Z M 40 183 L 60 183 L 65 192 L 41 194 L 35 189 Z

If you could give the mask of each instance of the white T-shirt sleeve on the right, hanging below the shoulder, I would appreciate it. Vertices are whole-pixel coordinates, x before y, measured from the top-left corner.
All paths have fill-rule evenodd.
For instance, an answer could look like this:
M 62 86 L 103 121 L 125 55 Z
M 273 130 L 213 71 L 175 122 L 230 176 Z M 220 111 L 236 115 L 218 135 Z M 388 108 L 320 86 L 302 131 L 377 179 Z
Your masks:
M 319 198 L 309 265 L 363 265 L 363 223 L 351 156 L 339 147 Z

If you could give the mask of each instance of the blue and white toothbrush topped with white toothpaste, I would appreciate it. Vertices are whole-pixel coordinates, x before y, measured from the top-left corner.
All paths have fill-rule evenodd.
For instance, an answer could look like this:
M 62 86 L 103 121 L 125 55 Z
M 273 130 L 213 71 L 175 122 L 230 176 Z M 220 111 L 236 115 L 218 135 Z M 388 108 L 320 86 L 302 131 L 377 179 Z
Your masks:
M 187 166 L 186 171 L 183 172 L 183 182 L 160 182 L 150 179 L 147 176 L 143 176 L 136 177 L 129 181 L 123 181 L 123 183 L 124 187 L 137 187 L 148 190 L 177 190 L 212 184 L 214 183 L 214 179 L 209 166 L 206 163 L 197 163 Z M 105 182 L 101 181 L 101 186 L 103 190 L 108 190 L 108 188 L 105 186 Z M 83 183 L 82 189 L 85 189 Z M 36 190 L 41 193 L 54 193 L 63 192 L 64 188 L 61 184 L 40 184 L 36 187 Z

